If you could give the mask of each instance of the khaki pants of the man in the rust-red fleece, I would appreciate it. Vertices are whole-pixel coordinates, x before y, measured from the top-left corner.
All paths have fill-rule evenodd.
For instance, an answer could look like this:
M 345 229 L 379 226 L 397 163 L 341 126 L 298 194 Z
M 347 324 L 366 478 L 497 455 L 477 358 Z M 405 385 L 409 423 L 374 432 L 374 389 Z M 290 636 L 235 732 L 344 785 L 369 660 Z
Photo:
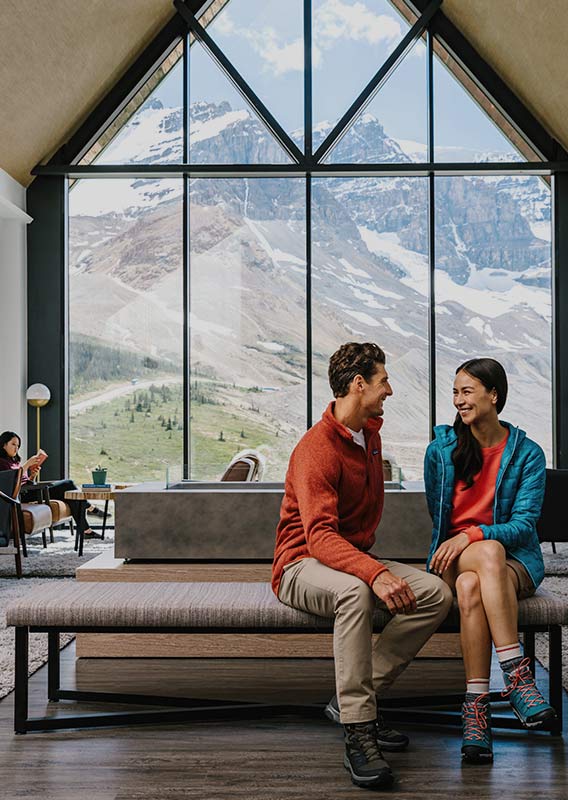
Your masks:
M 284 569 L 278 598 L 288 606 L 323 617 L 335 617 L 333 652 L 341 722 L 376 719 L 376 695 L 400 675 L 445 619 L 452 592 L 440 578 L 422 570 L 383 563 L 409 584 L 416 595 L 413 614 L 396 614 L 376 644 L 373 612 L 384 603 L 360 578 L 303 558 Z

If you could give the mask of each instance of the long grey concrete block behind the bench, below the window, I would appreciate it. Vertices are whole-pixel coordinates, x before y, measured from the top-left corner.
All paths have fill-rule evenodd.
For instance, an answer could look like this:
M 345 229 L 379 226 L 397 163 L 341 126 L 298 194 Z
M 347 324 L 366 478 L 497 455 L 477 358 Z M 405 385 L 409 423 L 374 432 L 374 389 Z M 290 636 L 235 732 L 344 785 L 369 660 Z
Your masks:
M 115 556 L 179 561 L 272 559 L 284 489 L 276 483 L 142 483 L 115 499 Z M 426 559 L 432 524 L 421 484 L 387 490 L 373 547 Z

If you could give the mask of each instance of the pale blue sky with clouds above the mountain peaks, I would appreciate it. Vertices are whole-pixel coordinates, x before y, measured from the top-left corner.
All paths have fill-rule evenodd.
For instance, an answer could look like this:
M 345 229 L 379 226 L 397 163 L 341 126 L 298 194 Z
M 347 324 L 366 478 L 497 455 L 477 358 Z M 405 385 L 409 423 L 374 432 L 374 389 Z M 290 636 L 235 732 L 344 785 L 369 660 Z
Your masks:
M 302 0 L 230 0 L 208 33 L 288 132 L 303 129 Z M 335 123 L 409 29 L 388 0 L 313 0 L 313 122 Z M 191 102 L 232 104 L 236 95 L 199 44 L 191 48 Z M 512 146 L 459 83 L 435 64 L 437 144 L 446 160 L 466 151 L 510 152 Z M 156 92 L 181 103 L 181 69 Z M 366 111 L 397 140 L 426 142 L 426 48 L 419 40 Z M 465 155 L 464 155 L 465 154 Z M 453 160 L 453 158 L 452 158 Z

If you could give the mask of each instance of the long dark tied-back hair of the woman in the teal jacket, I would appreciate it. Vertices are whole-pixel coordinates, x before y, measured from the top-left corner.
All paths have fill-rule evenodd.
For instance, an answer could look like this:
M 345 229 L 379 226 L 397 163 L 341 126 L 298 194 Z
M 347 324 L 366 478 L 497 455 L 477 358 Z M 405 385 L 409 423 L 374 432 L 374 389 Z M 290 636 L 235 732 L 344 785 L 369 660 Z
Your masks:
M 501 364 L 494 358 L 472 358 L 456 369 L 456 375 L 462 370 L 472 378 L 481 381 L 488 392 L 495 389 L 497 392 L 496 410 L 500 414 L 507 400 L 508 390 L 507 375 Z M 481 447 L 471 432 L 471 428 L 463 422 L 459 413 L 456 414 L 454 420 L 454 430 L 458 437 L 457 447 L 452 453 L 456 478 L 465 481 L 469 489 L 473 486 L 475 475 L 483 466 Z

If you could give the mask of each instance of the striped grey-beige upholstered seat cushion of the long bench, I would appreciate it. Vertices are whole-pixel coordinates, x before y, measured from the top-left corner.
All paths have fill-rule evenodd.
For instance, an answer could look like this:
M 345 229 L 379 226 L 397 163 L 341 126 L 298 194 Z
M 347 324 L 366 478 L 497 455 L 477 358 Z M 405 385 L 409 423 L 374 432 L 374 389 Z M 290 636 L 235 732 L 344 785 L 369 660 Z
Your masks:
M 331 631 L 333 620 L 289 608 L 269 583 L 43 584 L 12 602 L 8 625 L 77 627 L 295 628 Z M 390 619 L 377 608 L 375 629 Z M 448 622 L 457 623 L 457 606 Z M 521 625 L 566 625 L 568 602 L 539 589 L 519 604 Z

